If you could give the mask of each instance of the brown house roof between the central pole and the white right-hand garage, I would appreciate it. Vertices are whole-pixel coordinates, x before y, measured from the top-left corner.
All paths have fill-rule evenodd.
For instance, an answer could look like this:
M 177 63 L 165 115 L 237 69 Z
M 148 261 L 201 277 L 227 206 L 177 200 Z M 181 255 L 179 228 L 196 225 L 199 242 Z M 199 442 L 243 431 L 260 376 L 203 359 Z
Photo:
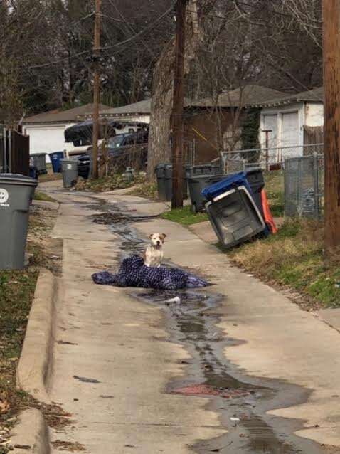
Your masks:
M 236 88 L 230 92 L 221 93 L 218 97 L 218 107 L 239 107 L 240 105 L 245 107 L 285 95 L 278 90 L 261 85 L 247 85 L 242 89 Z M 213 107 L 213 102 L 211 97 L 206 97 L 203 100 L 186 100 L 185 107 Z

